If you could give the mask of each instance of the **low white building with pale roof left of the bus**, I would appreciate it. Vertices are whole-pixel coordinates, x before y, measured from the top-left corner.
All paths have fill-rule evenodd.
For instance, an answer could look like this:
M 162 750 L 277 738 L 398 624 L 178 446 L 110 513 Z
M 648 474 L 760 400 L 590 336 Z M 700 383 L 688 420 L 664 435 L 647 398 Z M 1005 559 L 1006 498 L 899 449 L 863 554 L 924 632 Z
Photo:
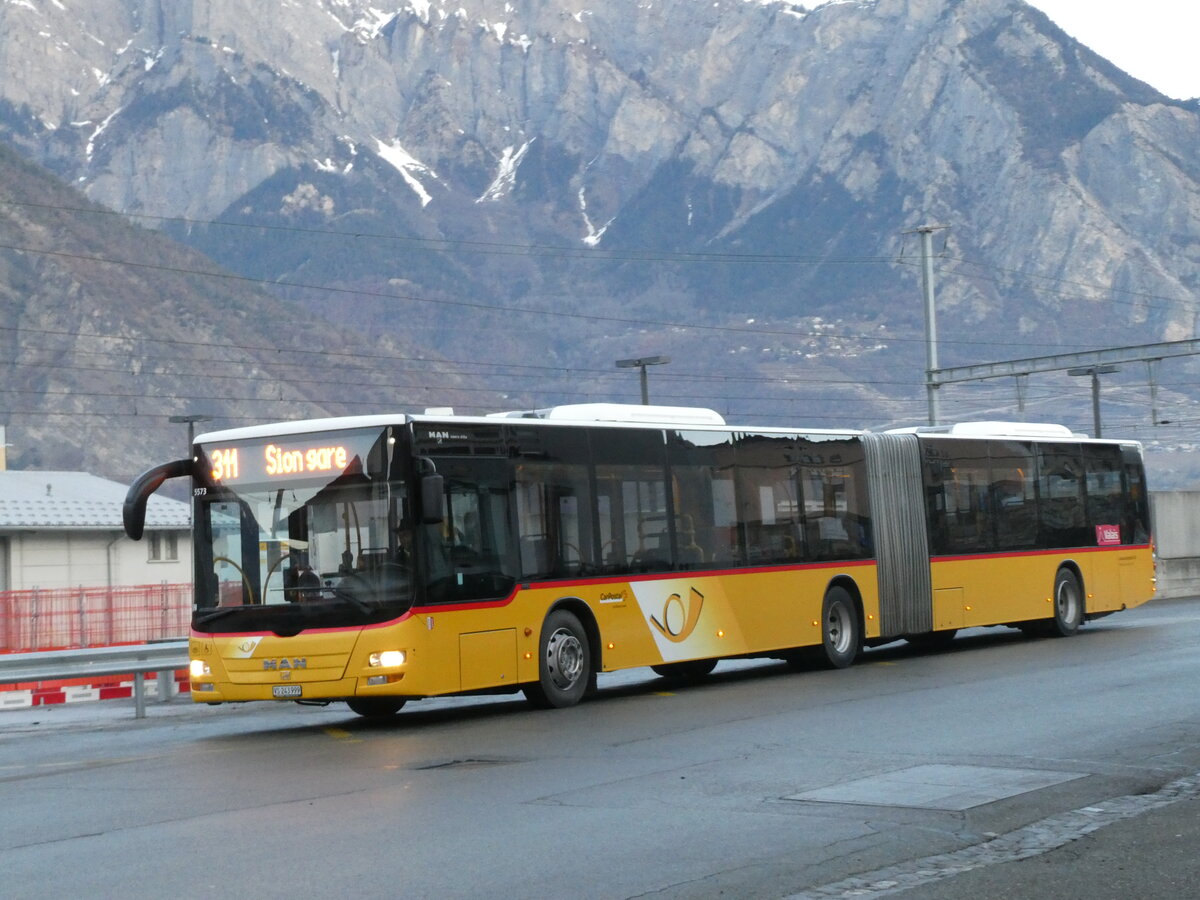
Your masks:
M 0 472 L 0 590 L 190 582 L 188 505 L 151 497 L 131 541 L 126 491 L 82 472 Z

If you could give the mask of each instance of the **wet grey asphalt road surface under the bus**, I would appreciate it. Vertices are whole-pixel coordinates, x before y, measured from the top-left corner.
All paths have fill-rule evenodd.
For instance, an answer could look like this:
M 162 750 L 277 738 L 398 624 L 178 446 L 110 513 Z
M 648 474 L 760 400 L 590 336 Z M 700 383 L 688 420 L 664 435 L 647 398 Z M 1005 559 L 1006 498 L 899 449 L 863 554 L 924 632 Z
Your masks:
M 520 698 L 0 713 L 4 898 L 1178 898 L 1200 601 L 846 671 Z

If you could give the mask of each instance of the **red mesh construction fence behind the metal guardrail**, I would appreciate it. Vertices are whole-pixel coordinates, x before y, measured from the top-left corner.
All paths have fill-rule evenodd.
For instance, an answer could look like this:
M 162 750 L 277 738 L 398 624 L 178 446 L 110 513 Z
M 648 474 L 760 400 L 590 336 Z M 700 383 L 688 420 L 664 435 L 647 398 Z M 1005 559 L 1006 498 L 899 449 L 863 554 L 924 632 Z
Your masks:
M 192 586 L 0 590 L 0 653 L 187 637 Z

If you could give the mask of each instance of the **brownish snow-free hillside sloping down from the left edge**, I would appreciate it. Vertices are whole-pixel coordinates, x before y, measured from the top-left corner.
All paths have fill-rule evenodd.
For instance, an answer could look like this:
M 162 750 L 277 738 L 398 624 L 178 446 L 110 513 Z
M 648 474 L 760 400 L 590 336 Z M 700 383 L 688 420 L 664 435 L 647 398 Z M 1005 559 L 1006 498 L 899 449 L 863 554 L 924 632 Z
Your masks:
M 0 424 L 7 463 L 128 480 L 186 426 L 420 403 L 413 348 L 311 320 L 172 239 L 131 226 L 0 145 Z M 451 402 L 461 379 L 444 378 Z M 420 382 L 415 383 L 416 385 Z M 199 424 L 203 430 L 208 424 Z

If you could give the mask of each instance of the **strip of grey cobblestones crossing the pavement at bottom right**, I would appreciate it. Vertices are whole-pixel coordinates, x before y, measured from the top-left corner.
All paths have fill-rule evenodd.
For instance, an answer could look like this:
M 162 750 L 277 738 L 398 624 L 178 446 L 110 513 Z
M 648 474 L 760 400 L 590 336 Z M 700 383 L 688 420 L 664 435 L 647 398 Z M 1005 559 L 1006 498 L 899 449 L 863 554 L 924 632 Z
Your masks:
M 858 899 L 898 894 L 988 865 L 1042 856 L 1114 822 L 1195 798 L 1200 798 L 1200 773 L 1171 781 L 1154 793 L 1116 797 L 1093 806 L 1061 812 L 982 844 L 808 888 L 792 894 L 787 900 Z

